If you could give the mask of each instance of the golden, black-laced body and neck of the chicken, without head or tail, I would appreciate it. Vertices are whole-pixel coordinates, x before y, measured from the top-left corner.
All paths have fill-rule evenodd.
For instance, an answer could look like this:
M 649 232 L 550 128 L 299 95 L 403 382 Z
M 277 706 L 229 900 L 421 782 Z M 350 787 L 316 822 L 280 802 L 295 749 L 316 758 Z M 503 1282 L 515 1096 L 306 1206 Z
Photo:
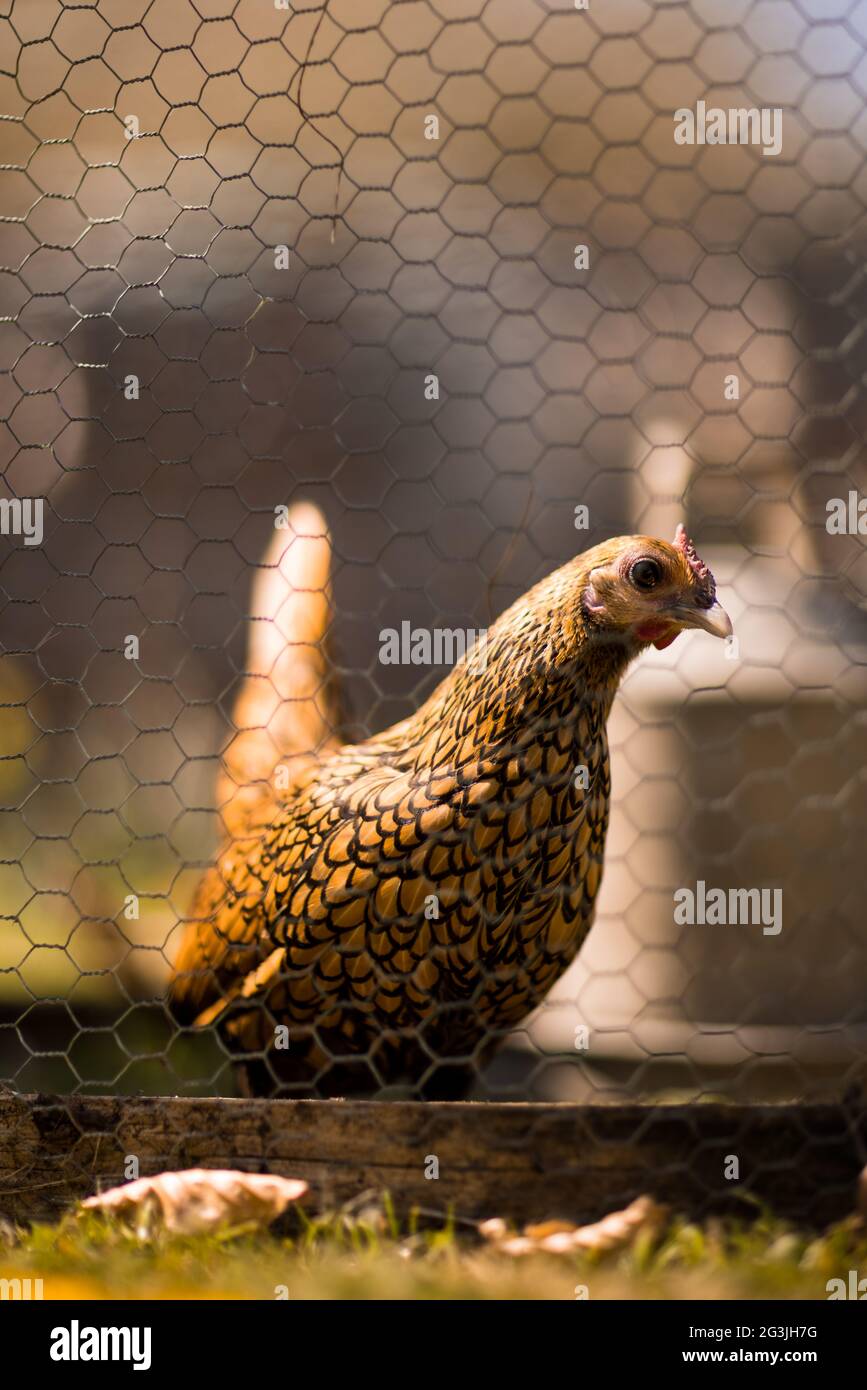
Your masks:
M 539 1004 L 593 920 L 606 720 L 646 641 L 586 602 L 624 543 L 536 585 L 411 719 L 247 795 L 188 927 L 182 1016 L 289 1087 L 375 1090 L 478 1065 Z

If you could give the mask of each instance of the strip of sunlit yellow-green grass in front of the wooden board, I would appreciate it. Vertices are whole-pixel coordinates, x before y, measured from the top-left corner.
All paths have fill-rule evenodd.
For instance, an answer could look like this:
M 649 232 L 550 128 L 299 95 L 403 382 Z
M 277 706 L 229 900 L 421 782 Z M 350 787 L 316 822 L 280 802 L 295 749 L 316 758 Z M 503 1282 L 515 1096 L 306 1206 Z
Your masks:
M 629 1248 L 511 1258 L 471 1227 L 399 1223 L 388 1198 L 288 1233 L 225 1232 L 142 1243 L 115 1220 L 71 1215 L 7 1233 L 0 1277 L 40 1277 L 46 1298 L 827 1298 L 831 1277 L 867 1272 L 856 1218 L 821 1236 L 770 1215 L 752 1225 L 672 1219 Z M 286 1295 L 286 1294 L 285 1294 Z M 285 1297 L 283 1295 L 283 1297 Z

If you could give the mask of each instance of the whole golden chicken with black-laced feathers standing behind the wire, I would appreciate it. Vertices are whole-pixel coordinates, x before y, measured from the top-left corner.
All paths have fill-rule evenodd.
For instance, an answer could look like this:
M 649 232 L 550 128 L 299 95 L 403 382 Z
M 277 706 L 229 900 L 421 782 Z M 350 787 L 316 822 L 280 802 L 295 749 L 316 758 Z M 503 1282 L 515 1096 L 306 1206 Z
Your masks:
M 329 541 L 290 513 L 254 588 L 220 803 L 170 999 L 217 1024 L 251 1094 L 457 1094 L 593 922 L 628 663 L 731 634 L 709 569 L 618 537 L 514 603 L 410 719 L 340 746 Z

